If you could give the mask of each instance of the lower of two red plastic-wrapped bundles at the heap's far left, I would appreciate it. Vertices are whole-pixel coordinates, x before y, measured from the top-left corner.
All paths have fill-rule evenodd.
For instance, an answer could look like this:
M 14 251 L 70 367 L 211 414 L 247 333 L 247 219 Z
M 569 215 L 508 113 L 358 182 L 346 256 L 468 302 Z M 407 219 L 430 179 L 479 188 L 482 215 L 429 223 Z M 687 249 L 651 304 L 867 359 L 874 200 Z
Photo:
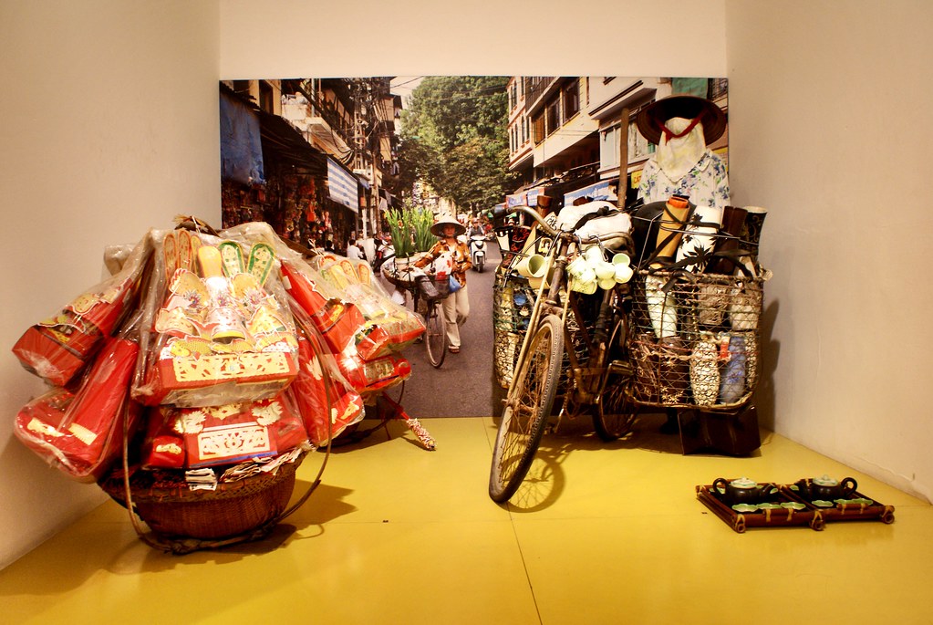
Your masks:
M 49 465 L 79 481 L 94 481 L 119 457 L 140 406 L 130 398 L 139 344 L 134 330 L 105 337 L 77 392 L 54 388 L 26 404 L 13 433 Z

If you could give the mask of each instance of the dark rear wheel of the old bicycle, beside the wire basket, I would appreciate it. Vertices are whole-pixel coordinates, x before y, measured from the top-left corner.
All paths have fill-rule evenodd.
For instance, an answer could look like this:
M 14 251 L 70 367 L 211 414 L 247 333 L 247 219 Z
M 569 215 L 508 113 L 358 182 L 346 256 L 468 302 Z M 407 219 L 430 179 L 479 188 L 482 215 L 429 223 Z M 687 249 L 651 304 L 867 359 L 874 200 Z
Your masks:
M 626 321 L 616 322 L 608 342 L 606 372 L 599 385 L 600 397 L 592 413 L 596 435 L 613 441 L 632 431 L 638 406 L 630 398 L 633 368 L 625 347 Z

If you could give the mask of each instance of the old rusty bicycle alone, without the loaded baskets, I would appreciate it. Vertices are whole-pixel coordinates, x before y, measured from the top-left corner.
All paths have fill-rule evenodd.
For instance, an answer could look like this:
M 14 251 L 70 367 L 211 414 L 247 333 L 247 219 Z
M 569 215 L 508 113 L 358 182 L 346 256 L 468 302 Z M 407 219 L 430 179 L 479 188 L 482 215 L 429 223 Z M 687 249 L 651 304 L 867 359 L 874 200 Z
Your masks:
M 511 210 L 534 219 L 547 245 L 539 250 L 545 254 L 532 272 L 540 274 L 541 281 L 495 437 L 489 495 L 498 503 L 518 490 L 532 464 L 558 396 L 564 360 L 568 376 L 558 418 L 595 409 L 592 420 L 597 435 L 614 440 L 630 431 L 637 411 L 624 391 L 633 374 L 625 352 L 626 285 L 614 283 L 592 298 L 594 293 L 575 290 L 575 278 L 567 273 L 570 255 L 584 246 L 597 246 L 602 257 L 602 243 L 621 241 L 620 248 L 631 250 L 631 237 L 627 232 L 578 236 L 578 229 L 593 217 L 607 215 L 605 211 L 584 216 L 571 229 L 555 229 L 527 206 Z M 502 210 L 496 214 L 504 215 Z M 591 328 L 592 309 L 596 315 Z M 567 349 L 568 345 L 573 349 Z

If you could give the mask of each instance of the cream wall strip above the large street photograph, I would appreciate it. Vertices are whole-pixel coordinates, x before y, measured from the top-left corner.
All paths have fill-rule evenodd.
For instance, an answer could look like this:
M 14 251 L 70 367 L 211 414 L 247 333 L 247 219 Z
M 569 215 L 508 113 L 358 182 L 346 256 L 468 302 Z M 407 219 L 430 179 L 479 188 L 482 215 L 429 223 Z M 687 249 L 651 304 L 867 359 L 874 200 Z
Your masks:
M 220 3 L 220 75 L 719 76 L 724 0 Z M 659 34 L 689 24 L 690 44 Z M 693 34 L 707 38 L 696 46 Z M 250 42 L 260 45 L 249 45 Z

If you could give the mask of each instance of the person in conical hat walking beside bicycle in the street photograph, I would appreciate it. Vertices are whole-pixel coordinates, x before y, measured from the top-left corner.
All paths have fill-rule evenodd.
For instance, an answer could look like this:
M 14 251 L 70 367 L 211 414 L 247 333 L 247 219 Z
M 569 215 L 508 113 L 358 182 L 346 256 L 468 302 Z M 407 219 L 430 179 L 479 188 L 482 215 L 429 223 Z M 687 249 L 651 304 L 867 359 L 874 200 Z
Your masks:
M 415 267 L 425 267 L 428 263 L 439 257 L 447 257 L 451 263 L 451 273 L 460 289 L 443 299 L 441 311 L 444 315 L 444 325 L 447 327 L 447 342 L 451 354 L 460 352 L 460 326 L 466 323 L 469 316 L 469 296 L 466 293 L 466 271 L 473 267 L 469 259 L 469 249 L 466 242 L 458 237 L 466 232 L 466 227 L 450 215 L 442 215 L 433 226 L 431 233 L 439 238 L 427 256 L 415 261 Z

